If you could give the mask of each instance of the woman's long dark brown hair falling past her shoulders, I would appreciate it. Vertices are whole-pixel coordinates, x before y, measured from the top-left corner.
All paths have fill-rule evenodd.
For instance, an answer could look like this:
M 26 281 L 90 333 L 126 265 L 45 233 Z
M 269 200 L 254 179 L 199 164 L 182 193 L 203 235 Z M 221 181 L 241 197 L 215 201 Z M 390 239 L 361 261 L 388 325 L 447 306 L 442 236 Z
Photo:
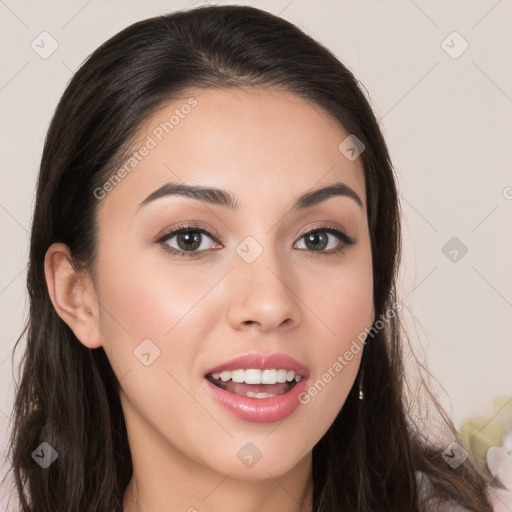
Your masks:
M 93 269 L 98 206 L 93 191 L 126 156 L 138 127 L 187 88 L 240 86 L 295 93 L 366 146 L 361 158 L 375 318 L 396 302 L 401 243 L 395 177 L 377 121 L 352 73 L 291 23 L 252 7 L 200 7 L 131 25 L 77 71 L 45 142 L 30 242 L 30 314 L 16 344 L 26 339 L 11 444 L 23 512 L 121 510 L 132 474 L 118 380 L 103 349 L 84 347 L 54 310 L 43 269 L 48 247 L 63 242 L 76 269 Z M 427 510 L 418 485 L 422 474 L 438 498 L 490 512 L 486 489 L 492 482 L 471 458 L 452 469 L 441 456 L 444 447 L 422 435 L 422 425 L 410 414 L 398 315 L 376 331 L 356 379 L 365 399 L 358 399 L 354 385 L 314 447 L 315 511 Z M 31 457 L 43 441 L 59 454 L 45 470 Z

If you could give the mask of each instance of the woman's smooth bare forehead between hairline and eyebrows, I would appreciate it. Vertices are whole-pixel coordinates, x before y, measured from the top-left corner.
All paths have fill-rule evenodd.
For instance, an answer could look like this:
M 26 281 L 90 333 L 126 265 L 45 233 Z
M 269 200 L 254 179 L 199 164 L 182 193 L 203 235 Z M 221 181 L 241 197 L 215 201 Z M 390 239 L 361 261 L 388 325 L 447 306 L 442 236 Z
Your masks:
M 365 202 L 361 159 L 350 161 L 338 149 L 348 135 L 326 111 L 290 92 L 191 89 L 137 130 L 122 179 L 101 208 L 135 208 L 168 182 L 224 188 L 257 206 L 342 181 Z

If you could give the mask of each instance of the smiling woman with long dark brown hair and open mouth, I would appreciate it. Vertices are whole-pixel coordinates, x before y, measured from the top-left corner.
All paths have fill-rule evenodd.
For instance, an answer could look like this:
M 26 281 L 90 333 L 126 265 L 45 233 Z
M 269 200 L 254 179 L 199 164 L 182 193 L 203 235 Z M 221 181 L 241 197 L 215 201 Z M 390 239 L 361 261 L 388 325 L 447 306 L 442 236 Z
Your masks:
M 114 36 L 41 163 L 21 509 L 493 510 L 449 420 L 436 444 L 410 410 L 399 249 L 384 140 L 327 49 L 238 6 Z

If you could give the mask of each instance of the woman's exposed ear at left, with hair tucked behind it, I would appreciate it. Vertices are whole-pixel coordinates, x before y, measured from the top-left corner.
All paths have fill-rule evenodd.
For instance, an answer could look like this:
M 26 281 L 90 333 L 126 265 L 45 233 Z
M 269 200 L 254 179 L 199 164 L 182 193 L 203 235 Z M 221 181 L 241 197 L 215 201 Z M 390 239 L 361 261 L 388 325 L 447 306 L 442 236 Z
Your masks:
M 44 273 L 55 311 L 88 348 L 102 346 L 99 329 L 99 303 L 88 276 L 78 274 L 71 265 L 69 247 L 52 244 L 46 251 Z

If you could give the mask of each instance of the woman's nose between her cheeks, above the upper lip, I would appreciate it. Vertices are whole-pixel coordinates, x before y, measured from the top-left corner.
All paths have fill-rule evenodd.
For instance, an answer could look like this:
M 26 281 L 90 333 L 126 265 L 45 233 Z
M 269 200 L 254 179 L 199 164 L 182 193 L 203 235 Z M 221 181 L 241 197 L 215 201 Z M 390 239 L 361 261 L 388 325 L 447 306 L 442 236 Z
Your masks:
M 288 266 L 285 270 L 276 252 L 268 249 L 252 263 L 235 257 L 227 311 L 231 327 L 269 332 L 297 326 L 301 301 L 292 269 Z

